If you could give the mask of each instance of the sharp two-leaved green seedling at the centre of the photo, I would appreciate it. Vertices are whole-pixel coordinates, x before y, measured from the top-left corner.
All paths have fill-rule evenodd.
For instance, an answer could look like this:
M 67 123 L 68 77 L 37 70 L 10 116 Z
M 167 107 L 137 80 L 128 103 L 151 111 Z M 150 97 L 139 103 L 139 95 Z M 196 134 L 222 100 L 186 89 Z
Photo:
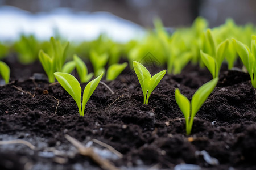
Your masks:
M 139 84 L 141 84 L 144 101 L 143 104 L 148 104 L 148 99 L 155 89 L 158 86 L 160 80 L 162 80 L 166 70 L 160 71 L 151 77 L 150 72 L 144 67 L 141 63 L 134 61 L 133 62 L 134 71 L 139 79 Z

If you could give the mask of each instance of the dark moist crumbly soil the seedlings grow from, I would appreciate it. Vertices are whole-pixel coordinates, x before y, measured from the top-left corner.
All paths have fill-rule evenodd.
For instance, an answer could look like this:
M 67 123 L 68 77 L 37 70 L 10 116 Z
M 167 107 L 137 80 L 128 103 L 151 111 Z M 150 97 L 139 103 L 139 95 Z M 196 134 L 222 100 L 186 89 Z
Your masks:
M 66 134 L 120 169 L 182 169 L 178 164 L 256 169 L 256 90 L 247 73 L 224 66 L 187 136 L 174 91 L 179 88 L 191 100 L 212 78 L 199 66 L 189 64 L 179 75 L 165 75 L 148 105 L 143 104 L 137 76 L 126 68 L 113 82 L 102 79 L 114 94 L 99 84 L 81 117 L 60 84 L 49 84 L 42 76 L 39 63 L 9 65 L 10 83 L 0 87 L 0 140 L 20 139 L 35 148 L 1 144 L 0 169 L 102 169 L 92 157 L 81 155 Z M 160 70 L 155 67 L 151 73 Z

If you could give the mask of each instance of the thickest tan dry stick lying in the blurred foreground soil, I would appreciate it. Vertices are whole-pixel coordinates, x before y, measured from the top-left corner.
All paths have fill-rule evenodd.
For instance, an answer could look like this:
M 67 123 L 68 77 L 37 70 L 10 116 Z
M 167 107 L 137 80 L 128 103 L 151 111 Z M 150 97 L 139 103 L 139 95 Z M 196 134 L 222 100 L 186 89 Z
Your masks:
M 77 141 L 75 138 L 65 134 L 65 138 L 72 143 L 78 150 L 81 155 L 88 156 L 91 158 L 94 162 L 96 162 L 98 165 L 100 165 L 101 168 L 105 170 L 119 170 L 119 168 L 112 165 L 108 160 L 102 159 L 100 156 L 98 156 L 92 148 L 87 148 L 84 145 L 82 145 L 81 142 Z

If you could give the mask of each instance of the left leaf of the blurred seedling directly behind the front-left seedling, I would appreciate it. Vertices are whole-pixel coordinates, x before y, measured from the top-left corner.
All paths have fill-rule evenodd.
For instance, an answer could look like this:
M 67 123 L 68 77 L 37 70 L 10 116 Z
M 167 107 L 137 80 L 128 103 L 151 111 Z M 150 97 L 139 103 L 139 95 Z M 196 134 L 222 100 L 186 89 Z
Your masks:
M 55 78 L 54 78 L 54 71 L 55 71 L 55 65 L 53 62 L 53 59 L 48 56 L 48 54 L 44 53 L 43 50 L 39 51 L 39 61 L 41 62 L 44 71 L 46 72 L 49 83 L 54 83 Z

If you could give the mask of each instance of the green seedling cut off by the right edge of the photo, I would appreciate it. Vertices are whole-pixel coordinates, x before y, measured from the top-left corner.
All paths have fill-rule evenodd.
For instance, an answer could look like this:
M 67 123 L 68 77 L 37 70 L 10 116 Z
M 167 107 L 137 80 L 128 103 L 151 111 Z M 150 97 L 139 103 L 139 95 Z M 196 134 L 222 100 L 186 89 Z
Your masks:
M 250 75 L 251 84 L 256 88 L 256 36 L 251 36 L 251 50 L 240 41 L 233 39 L 233 42 L 238 56 Z

